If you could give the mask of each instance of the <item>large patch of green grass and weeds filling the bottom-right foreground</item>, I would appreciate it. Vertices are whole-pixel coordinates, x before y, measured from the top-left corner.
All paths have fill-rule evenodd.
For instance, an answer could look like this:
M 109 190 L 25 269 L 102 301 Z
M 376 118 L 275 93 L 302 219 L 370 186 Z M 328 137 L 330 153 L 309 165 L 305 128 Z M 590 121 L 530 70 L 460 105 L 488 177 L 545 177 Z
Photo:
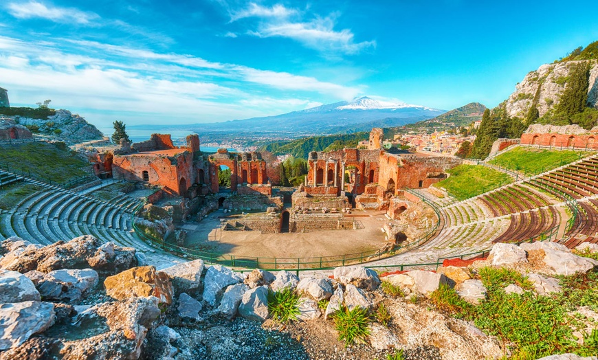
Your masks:
M 432 304 L 455 317 L 474 321 L 485 333 L 508 344 L 510 359 L 538 359 L 565 352 L 587 357 L 597 353 L 596 332 L 586 334 L 584 344 L 577 344 L 573 331 L 585 326 L 571 312 L 577 306 L 598 310 L 598 271 L 562 276 L 562 293 L 547 296 L 533 291 L 505 293 L 503 287 L 508 284 L 532 288 L 524 275 L 513 270 L 483 268 L 477 278 L 487 287 L 487 300 L 477 306 L 463 301 L 454 289 L 444 285 L 431 294 Z

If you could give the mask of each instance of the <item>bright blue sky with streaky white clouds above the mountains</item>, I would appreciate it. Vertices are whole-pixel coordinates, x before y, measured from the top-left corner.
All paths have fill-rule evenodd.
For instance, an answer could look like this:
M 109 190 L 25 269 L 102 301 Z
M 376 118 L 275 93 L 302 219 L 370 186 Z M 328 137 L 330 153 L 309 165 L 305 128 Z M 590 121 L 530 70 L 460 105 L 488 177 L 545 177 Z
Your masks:
M 368 95 L 496 106 L 528 71 L 598 40 L 576 1 L 5 0 L 13 105 L 102 128 L 276 115 Z

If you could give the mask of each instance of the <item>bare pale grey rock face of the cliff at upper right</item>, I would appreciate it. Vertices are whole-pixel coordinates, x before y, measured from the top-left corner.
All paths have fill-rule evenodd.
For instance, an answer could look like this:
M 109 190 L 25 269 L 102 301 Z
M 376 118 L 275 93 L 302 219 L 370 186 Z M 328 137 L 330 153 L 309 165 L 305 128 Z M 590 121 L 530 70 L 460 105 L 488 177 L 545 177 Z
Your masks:
M 590 64 L 590 86 L 588 87 L 588 105 L 598 109 L 598 61 L 577 60 L 563 63 L 545 64 L 538 70 L 531 71 L 507 100 L 507 114 L 510 117 L 525 117 L 538 93 L 538 111 L 540 116 L 547 113 L 560 101 L 571 70 L 579 63 Z

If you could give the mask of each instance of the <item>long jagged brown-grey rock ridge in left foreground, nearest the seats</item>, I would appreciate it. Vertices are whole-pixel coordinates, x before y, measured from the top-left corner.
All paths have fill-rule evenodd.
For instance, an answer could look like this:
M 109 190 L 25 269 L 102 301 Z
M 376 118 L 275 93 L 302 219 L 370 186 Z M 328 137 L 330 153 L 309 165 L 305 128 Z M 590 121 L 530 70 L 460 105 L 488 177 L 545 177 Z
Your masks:
M 79 236 L 69 242 L 58 241 L 41 248 L 34 245 L 19 247 L 5 254 L 0 264 L 3 269 L 19 273 L 87 268 L 115 273 L 136 265 L 135 249 L 118 247 L 113 243 L 104 244 L 90 235 Z

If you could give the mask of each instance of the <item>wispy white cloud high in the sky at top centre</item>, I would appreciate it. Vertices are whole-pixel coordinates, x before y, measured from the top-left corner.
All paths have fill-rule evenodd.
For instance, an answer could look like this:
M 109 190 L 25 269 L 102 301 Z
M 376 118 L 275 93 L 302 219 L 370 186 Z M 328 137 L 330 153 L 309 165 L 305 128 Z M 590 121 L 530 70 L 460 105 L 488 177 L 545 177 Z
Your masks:
M 295 9 L 285 8 L 284 5 L 274 5 L 268 8 L 256 3 L 231 15 L 231 22 L 248 17 L 259 19 L 255 30 L 247 30 L 247 34 L 263 38 L 280 36 L 291 38 L 306 47 L 324 53 L 357 54 L 364 49 L 376 47 L 375 41 L 355 42 L 355 35 L 349 29 L 334 30 L 335 17 L 315 16 L 314 19 L 304 20 L 304 14 Z

